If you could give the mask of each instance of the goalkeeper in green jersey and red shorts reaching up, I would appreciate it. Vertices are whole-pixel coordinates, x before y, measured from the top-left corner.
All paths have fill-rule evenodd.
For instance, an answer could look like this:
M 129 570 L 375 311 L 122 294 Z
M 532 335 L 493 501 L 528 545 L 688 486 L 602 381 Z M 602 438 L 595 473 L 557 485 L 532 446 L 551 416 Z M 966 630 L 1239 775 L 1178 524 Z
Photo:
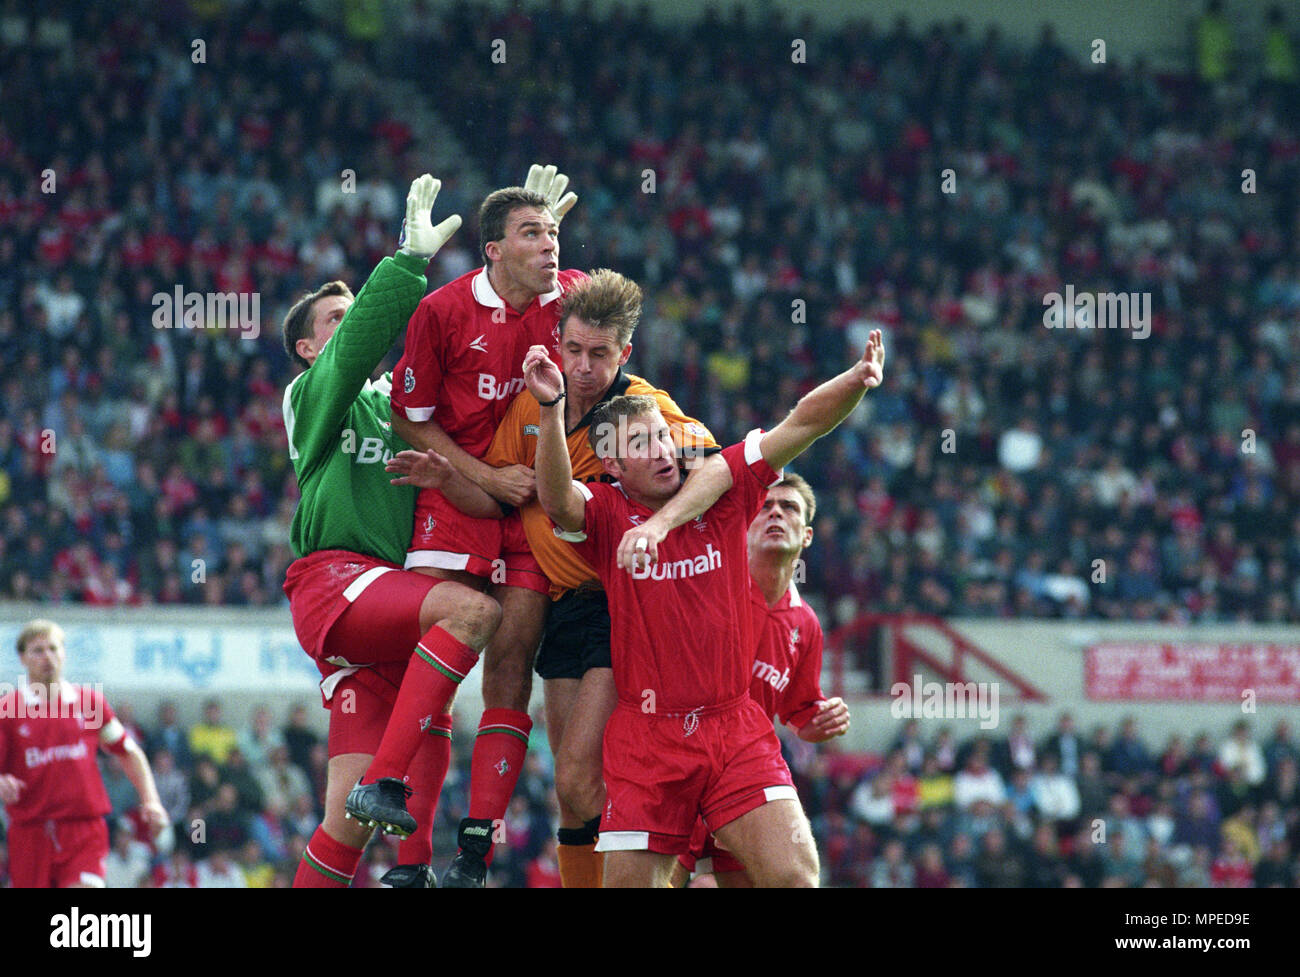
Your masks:
M 346 887 L 376 825 L 406 837 L 399 865 L 384 881 L 432 887 L 433 809 L 451 757 L 447 708 L 456 685 L 500 622 L 495 600 L 460 583 L 402 569 L 416 490 L 385 470 L 407 447 L 391 430 L 391 377 L 370 374 L 425 294 L 425 266 L 460 226 L 430 220 L 438 181 L 411 184 L 400 249 L 384 259 L 360 294 L 329 282 L 285 317 L 285 348 L 303 372 L 285 391 L 285 433 L 302 499 L 286 573 L 294 630 L 321 670 L 330 711 L 325 821 L 312 835 L 295 887 Z M 456 476 L 446 491 L 455 491 Z M 442 678 L 402 689 L 419 663 Z M 404 780 L 378 781 L 400 822 L 350 820 L 344 798 L 370 764 L 390 716 L 410 716 L 428 733 L 408 757 Z M 408 799 L 408 800 L 407 800 Z M 387 808 L 386 808 L 387 809 Z M 408 835 L 408 837 L 407 837 Z

